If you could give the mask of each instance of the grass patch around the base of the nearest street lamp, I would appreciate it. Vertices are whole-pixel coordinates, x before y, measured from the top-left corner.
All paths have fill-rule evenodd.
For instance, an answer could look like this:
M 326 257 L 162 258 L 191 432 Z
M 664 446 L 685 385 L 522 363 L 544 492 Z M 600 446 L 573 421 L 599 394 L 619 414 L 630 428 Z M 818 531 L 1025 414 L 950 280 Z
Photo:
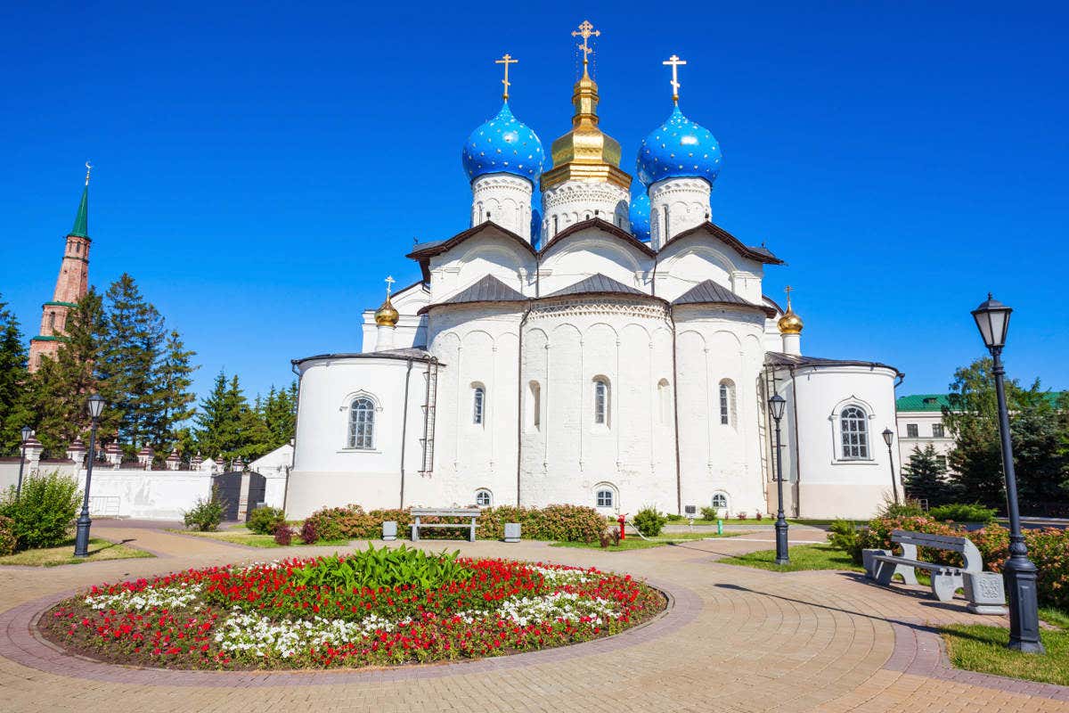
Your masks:
M 1069 621 L 1064 611 L 1051 618 Z M 1040 631 L 1044 654 L 1021 653 L 1006 648 L 1009 630 L 983 624 L 952 624 L 942 630 L 947 655 L 956 668 L 978 673 L 1007 676 L 1026 681 L 1069 685 L 1069 631 Z

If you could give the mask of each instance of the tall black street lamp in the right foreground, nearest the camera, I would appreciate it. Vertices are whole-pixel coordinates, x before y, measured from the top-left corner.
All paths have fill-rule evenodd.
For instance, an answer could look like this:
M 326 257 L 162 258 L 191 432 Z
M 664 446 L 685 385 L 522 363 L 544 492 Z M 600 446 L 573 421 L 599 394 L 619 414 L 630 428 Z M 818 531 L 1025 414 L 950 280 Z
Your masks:
M 1017 507 L 1017 474 L 1013 471 L 1013 445 L 1009 437 L 1009 412 L 1003 376 L 1002 351 L 1006 344 L 1009 314 L 1013 310 L 988 293 L 987 301 L 973 310 L 973 319 L 991 352 L 991 373 L 998 399 L 998 434 L 1002 436 L 1003 471 L 1006 474 L 1006 509 L 1009 511 L 1009 559 L 1003 578 L 1009 594 L 1009 648 L 1025 653 L 1043 653 L 1039 638 L 1039 603 L 1036 599 L 1036 565 L 1028 559 L 1028 548 L 1021 534 L 1021 514 Z

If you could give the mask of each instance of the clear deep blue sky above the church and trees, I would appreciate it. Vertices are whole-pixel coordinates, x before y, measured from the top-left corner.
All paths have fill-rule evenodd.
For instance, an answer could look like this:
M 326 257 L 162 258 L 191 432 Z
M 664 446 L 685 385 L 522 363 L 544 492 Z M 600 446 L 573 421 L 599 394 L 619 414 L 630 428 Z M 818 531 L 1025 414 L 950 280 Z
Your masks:
M 796 288 L 806 354 L 943 390 L 992 290 L 1016 308 L 1010 374 L 1069 388 L 1064 4 L 379 4 L 9 6 L 0 292 L 24 330 L 91 159 L 91 280 L 137 279 L 199 353 L 200 392 L 358 350 L 383 278 L 419 277 L 413 238 L 467 228 L 460 152 L 498 109 L 493 60 L 520 59 L 511 105 L 548 146 L 589 17 L 629 172 L 670 112 L 662 60 L 688 61 L 681 107 L 725 156 L 713 218 L 788 262 L 765 292 Z

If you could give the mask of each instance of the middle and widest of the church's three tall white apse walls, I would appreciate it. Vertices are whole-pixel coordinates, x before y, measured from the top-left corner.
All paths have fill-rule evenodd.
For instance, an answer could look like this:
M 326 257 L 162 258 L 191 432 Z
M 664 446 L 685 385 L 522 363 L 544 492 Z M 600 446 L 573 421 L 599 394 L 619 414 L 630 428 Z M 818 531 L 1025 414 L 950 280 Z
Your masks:
M 609 385 L 605 424 L 594 422 L 595 377 Z M 646 505 L 676 511 L 671 331 L 664 307 L 611 297 L 540 305 L 524 328 L 523 379 L 523 505 L 594 506 L 605 484 L 618 495 L 607 511 L 634 513 Z M 537 399 L 531 382 L 539 385 Z M 661 394 L 668 400 L 663 407 Z

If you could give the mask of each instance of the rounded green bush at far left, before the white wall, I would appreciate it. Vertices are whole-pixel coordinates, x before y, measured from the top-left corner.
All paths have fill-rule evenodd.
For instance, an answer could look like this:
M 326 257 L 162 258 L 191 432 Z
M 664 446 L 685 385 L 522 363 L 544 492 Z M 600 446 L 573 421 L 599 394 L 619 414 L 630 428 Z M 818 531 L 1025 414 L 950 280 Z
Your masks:
M 24 480 L 17 500 L 15 487 L 9 487 L 0 503 L 0 515 L 15 523 L 16 551 L 55 547 L 69 537 L 80 505 L 78 481 L 53 471 Z

